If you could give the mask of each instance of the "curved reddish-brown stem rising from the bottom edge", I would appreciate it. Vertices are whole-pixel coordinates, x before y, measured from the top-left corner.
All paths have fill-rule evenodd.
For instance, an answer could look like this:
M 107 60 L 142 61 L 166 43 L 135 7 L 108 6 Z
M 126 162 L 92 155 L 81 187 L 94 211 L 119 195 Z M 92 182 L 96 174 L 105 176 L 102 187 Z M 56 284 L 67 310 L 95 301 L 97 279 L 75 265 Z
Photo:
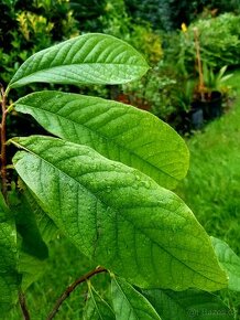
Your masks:
M 48 317 L 46 318 L 46 320 L 52 320 L 52 319 L 56 316 L 56 313 L 57 313 L 59 307 L 62 306 L 62 303 L 63 303 L 63 302 L 64 302 L 64 301 L 69 297 L 69 295 L 74 291 L 74 289 L 75 289 L 78 285 L 85 282 L 86 280 L 88 280 L 89 278 L 91 278 L 92 276 L 95 276 L 95 275 L 97 275 L 97 274 L 106 273 L 106 271 L 107 271 L 107 269 L 105 269 L 105 268 L 102 268 L 102 267 L 97 267 L 96 269 L 94 269 L 94 270 L 87 273 L 87 274 L 84 275 L 83 277 L 80 277 L 80 278 L 78 278 L 77 280 L 75 280 L 70 286 L 68 286 L 68 287 L 66 288 L 66 290 L 65 290 L 65 291 L 62 294 L 62 296 L 57 299 L 57 301 L 56 301 L 56 303 L 55 303 L 53 310 L 50 312 L 50 314 L 48 314 Z

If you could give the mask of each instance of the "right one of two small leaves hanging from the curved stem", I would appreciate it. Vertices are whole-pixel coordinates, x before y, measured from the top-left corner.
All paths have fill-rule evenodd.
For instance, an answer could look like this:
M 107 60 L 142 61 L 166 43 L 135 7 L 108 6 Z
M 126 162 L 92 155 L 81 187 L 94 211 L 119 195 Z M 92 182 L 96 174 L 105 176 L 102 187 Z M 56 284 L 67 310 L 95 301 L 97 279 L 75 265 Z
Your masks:
M 121 278 L 111 279 L 116 320 L 161 320 L 152 305 Z

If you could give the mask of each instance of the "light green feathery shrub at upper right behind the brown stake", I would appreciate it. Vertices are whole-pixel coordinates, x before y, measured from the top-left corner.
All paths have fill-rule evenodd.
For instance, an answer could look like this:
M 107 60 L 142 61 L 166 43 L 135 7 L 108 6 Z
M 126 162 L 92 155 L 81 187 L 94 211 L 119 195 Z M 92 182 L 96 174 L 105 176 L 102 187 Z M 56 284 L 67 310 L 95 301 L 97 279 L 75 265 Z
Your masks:
M 200 19 L 192 23 L 186 32 L 175 35 L 171 44 L 170 60 L 177 58 L 177 65 L 184 73 L 195 73 L 196 50 L 194 29 L 199 33 L 201 60 L 220 70 L 225 65 L 240 64 L 240 15 L 225 13 L 216 18 Z

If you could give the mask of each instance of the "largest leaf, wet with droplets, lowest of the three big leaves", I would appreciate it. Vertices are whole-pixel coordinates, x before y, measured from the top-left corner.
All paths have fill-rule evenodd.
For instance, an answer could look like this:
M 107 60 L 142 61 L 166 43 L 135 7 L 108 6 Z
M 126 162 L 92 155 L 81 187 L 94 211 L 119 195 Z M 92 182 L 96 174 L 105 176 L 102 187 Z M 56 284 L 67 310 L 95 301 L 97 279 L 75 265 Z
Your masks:
M 97 264 L 145 288 L 226 286 L 208 235 L 174 193 L 87 146 L 39 136 L 12 142 L 25 149 L 13 160 L 20 177 Z

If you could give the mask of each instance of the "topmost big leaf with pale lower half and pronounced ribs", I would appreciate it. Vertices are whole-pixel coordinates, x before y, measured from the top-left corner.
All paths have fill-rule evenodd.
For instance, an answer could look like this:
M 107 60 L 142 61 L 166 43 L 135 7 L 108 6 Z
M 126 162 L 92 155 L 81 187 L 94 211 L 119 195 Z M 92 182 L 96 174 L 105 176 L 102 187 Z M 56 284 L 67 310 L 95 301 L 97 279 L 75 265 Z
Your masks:
M 141 77 L 149 66 L 138 51 L 106 34 L 84 34 L 30 56 L 9 84 L 122 84 Z

